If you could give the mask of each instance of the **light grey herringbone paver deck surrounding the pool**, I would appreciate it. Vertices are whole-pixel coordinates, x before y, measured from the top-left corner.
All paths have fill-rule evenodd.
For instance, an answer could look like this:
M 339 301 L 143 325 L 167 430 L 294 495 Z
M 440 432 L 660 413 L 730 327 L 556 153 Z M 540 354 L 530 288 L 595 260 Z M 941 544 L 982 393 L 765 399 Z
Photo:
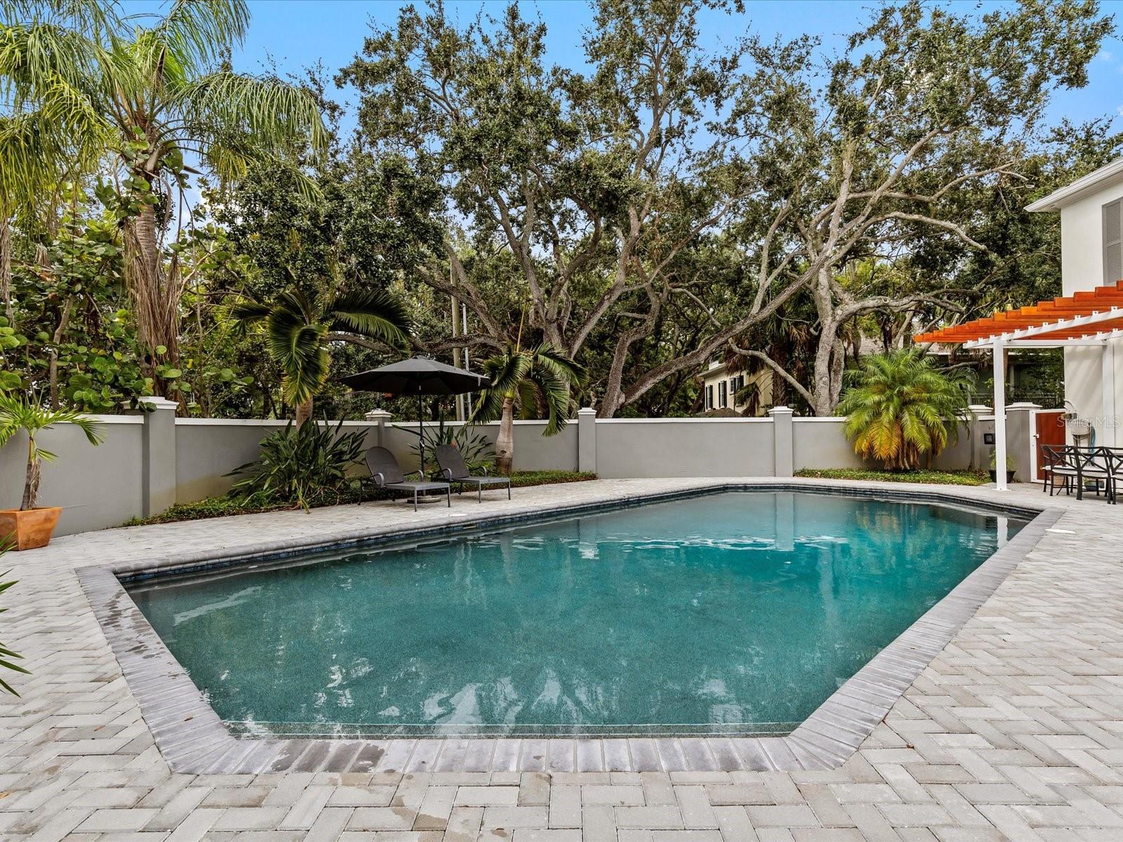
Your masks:
M 274 512 L 69 536 L 10 553 L 6 578 L 19 585 L 4 595 L 0 640 L 25 656 L 33 675 L 16 676 L 20 698 L 0 697 L 0 839 L 1123 840 L 1123 507 L 1102 500 L 1049 498 L 1039 486 L 999 493 L 780 481 L 1050 507 L 1028 555 L 1002 570 L 997 589 L 933 650 L 857 751 L 834 768 L 809 760 L 811 768 L 789 771 L 759 770 L 751 754 L 688 740 L 639 740 L 622 752 L 602 741 L 512 740 L 503 747 L 513 758 L 505 769 L 496 759 L 503 741 L 393 740 L 363 771 L 328 771 L 344 749 L 308 751 L 285 771 L 179 771 L 190 767 L 173 757 L 133 672 L 146 657 L 144 641 L 129 652 L 117 640 L 115 655 L 88 598 L 90 580 L 104 575 L 86 569 L 83 589 L 76 573 L 720 482 L 596 481 L 517 489 L 511 503 L 494 495 L 477 505 L 466 495 L 451 510 L 417 514 L 401 503 Z M 191 710 L 190 688 L 181 695 L 167 705 Z M 652 770 L 645 752 L 656 742 Z

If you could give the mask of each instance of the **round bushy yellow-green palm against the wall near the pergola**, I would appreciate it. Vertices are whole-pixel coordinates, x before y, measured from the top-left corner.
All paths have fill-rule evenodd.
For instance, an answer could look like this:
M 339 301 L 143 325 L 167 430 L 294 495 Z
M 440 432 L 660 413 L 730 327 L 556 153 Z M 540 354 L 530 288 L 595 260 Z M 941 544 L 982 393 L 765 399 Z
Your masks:
M 865 357 L 850 372 L 838 413 L 855 452 L 889 470 L 920 467 L 955 440 L 967 408 L 970 375 L 943 374 L 916 348 Z

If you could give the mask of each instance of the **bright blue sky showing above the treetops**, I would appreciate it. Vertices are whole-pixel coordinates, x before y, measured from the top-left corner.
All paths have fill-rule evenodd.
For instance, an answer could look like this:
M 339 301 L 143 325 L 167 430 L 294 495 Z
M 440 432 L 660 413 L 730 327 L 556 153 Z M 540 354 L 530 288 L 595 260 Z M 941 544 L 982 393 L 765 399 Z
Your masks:
M 959 2 L 967 4 L 965 0 Z M 334 73 L 362 48 L 371 21 L 393 22 L 403 4 L 396 0 L 250 0 L 249 37 L 235 56 L 235 64 L 241 71 L 261 72 L 272 62 L 282 73 L 296 73 L 322 62 Z M 591 19 L 588 6 L 582 0 L 538 0 L 522 4 L 528 17 L 539 16 L 547 25 L 549 58 L 557 64 L 579 67 L 584 63 L 582 34 Z M 982 6 L 995 4 L 984 2 Z M 153 11 L 161 3 L 126 0 L 125 6 L 130 12 Z M 503 6 L 503 2 L 480 0 L 447 3 L 450 13 L 464 21 L 472 20 L 481 9 L 499 12 Z M 868 18 L 873 6 L 848 0 L 747 0 L 742 15 L 704 12 L 701 17 L 703 42 L 707 47 L 720 49 L 722 43 L 732 43 L 746 31 L 766 38 L 777 34 L 791 38 L 809 33 L 819 36 L 824 51 L 840 51 L 844 37 Z M 1114 11 L 1123 27 L 1123 0 L 1106 0 L 1102 6 L 1107 12 Z M 1093 62 L 1090 76 L 1087 88 L 1057 94 L 1051 108 L 1054 119 L 1069 117 L 1083 121 L 1123 113 L 1123 42 L 1113 38 L 1104 44 Z M 338 97 L 348 99 L 348 92 L 340 91 Z

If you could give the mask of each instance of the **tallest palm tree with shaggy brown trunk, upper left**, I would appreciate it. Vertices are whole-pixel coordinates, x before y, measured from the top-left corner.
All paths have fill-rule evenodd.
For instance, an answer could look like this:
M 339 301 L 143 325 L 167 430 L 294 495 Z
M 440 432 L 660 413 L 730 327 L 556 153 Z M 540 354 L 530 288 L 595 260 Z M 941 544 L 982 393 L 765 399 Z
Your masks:
M 13 21 L 0 26 L 6 110 L 39 115 L 48 139 L 112 155 L 138 338 L 150 370 L 159 358 L 174 365 L 182 283 L 175 262 L 165 265 L 162 238 L 176 194 L 197 173 L 185 158 L 230 180 L 254 161 L 318 149 L 316 100 L 276 77 L 228 68 L 225 57 L 249 24 L 244 0 L 175 0 L 150 25 L 112 17 L 98 0 L 7 0 L 4 9 Z

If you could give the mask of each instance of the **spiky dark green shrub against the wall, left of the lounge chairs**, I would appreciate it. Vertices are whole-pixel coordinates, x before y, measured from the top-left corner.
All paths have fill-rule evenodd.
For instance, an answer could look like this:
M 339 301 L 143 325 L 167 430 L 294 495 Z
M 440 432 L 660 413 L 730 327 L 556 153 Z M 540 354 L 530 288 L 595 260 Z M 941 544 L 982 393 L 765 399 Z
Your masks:
M 267 436 L 261 456 L 235 468 L 227 476 L 240 477 L 230 488 L 238 501 L 289 503 L 308 509 L 320 501 L 340 502 L 347 470 L 363 456 L 365 430 L 341 432 L 343 421 L 332 429 L 308 423 Z

